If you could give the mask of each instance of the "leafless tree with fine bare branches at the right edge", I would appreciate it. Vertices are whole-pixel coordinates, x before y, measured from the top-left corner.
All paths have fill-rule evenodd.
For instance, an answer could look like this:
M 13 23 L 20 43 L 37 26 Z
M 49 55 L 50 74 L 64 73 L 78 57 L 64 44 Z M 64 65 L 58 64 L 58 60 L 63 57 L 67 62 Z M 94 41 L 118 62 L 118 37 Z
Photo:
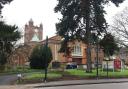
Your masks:
M 111 31 L 120 45 L 128 47 L 128 7 L 114 16 Z

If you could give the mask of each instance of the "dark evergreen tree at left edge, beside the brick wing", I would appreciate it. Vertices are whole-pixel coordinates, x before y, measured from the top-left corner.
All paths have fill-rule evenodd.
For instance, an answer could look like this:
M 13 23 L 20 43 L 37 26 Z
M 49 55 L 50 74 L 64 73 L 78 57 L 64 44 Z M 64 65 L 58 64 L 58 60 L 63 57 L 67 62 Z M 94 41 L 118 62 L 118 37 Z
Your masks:
M 16 41 L 19 40 L 20 37 L 20 32 L 16 26 L 0 22 L 0 65 L 4 65 L 7 62 Z

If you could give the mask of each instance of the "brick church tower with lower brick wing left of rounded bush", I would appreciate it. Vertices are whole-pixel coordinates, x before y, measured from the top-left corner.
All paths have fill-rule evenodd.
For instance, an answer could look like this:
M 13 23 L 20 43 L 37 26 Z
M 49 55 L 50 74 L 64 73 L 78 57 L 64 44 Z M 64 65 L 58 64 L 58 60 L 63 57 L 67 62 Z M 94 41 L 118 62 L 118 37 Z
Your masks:
M 43 40 L 43 25 L 34 26 L 32 19 L 25 25 L 24 28 L 24 44 L 14 50 L 10 57 L 9 64 L 22 66 L 29 61 L 29 56 L 35 47 Z

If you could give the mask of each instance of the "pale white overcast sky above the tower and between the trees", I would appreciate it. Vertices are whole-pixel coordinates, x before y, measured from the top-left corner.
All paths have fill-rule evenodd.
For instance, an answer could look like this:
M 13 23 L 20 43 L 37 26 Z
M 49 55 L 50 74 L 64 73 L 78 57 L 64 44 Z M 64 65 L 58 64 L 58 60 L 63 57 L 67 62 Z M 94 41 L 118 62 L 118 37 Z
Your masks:
M 61 15 L 54 13 L 57 0 L 13 0 L 11 4 L 5 5 L 2 10 L 4 20 L 8 24 L 16 24 L 21 29 L 32 18 L 35 25 L 43 24 L 43 38 L 48 35 L 54 36 L 56 33 L 55 23 Z M 116 8 L 113 4 L 106 6 L 108 23 L 112 22 L 112 17 L 122 11 L 128 5 L 125 0 L 120 7 Z

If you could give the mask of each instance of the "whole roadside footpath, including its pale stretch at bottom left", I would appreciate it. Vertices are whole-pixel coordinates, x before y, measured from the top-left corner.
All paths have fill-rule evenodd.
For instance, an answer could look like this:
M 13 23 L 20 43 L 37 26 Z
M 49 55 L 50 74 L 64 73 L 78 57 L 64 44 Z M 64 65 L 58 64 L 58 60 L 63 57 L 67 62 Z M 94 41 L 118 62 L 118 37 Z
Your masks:
M 38 89 L 42 87 L 58 87 L 70 85 L 87 85 L 87 84 L 102 84 L 102 83 L 124 83 L 128 79 L 99 79 L 99 80 L 70 80 L 70 81 L 55 81 L 47 83 L 26 84 L 26 85 L 2 85 L 0 89 Z

